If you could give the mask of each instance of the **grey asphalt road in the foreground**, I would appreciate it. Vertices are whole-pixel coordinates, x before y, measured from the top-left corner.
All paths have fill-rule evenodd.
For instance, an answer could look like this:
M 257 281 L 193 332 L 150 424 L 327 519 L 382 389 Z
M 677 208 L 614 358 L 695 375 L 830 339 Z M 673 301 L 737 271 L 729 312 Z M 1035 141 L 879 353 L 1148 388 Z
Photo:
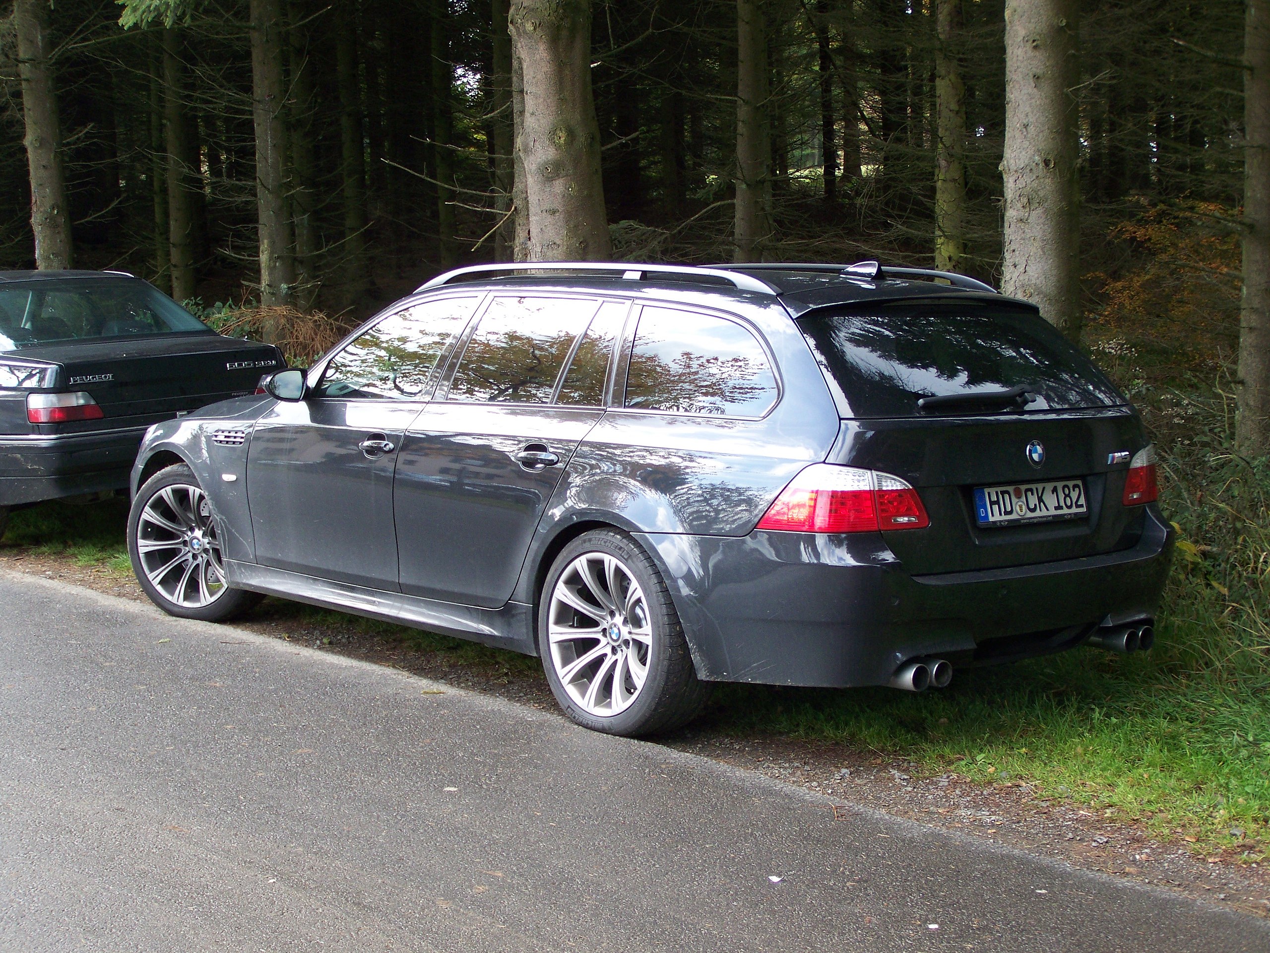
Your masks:
M 0 572 L 0 949 L 1266 953 L 1270 924 Z

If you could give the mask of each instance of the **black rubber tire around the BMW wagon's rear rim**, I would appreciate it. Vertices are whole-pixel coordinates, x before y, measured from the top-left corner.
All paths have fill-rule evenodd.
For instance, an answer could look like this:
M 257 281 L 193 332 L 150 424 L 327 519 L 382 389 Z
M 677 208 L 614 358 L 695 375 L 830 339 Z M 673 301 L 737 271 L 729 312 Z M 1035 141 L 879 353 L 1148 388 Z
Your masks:
M 616 640 L 617 635 L 606 642 L 611 626 L 605 628 L 606 620 L 602 616 L 594 612 L 582 612 L 573 604 L 555 598 L 556 587 L 566 572 L 572 573 L 570 578 L 582 581 L 584 571 L 577 567 L 610 565 L 608 563 L 585 562 L 579 564 L 578 560 L 584 558 L 588 560 L 603 560 L 605 557 L 612 557 L 617 560 L 630 579 L 638 585 L 640 590 L 639 595 L 643 596 L 643 605 L 646 607 L 646 611 L 639 609 L 639 598 L 636 596 L 632 618 L 629 620 L 630 625 L 617 620 L 620 633 L 634 634 L 636 630 L 640 633 L 635 637 L 639 639 L 638 644 L 635 638 L 626 639 L 625 652 L 631 656 L 632 661 L 625 663 L 617 656 L 622 651 L 622 643 Z M 601 579 L 597 579 L 597 582 L 602 583 Z M 601 585 L 601 587 L 603 586 Z M 621 588 L 621 583 L 618 583 L 617 588 Z M 578 587 L 570 588 L 569 579 L 565 579 L 565 590 L 572 592 L 574 598 L 579 597 Z M 627 586 L 625 591 L 631 593 L 634 588 Z M 596 606 L 602 606 L 605 602 L 603 598 L 597 600 L 593 597 L 583 597 L 582 601 Z M 621 600 L 612 600 L 615 604 L 617 601 Z M 625 607 L 631 609 L 631 606 L 632 604 L 627 600 Z M 554 611 L 558 614 L 555 619 L 558 632 L 564 632 L 566 635 L 569 632 L 579 633 L 577 638 L 566 638 L 559 643 L 559 656 L 554 654 L 550 635 Z M 610 610 L 610 615 L 613 614 Z M 636 621 L 640 624 L 636 624 Z M 599 629 L 596 629 L 596 624 L 599 625 Z M 657 564 L 625 532 L 618 530 L 593 530 L 570 541 L 560 551 L 542 587 L 538 600 L 537 628 L 538 652 L 542 656 L 542 668 L 546 672 L 547 682 L 551 685 L 551 691 L 565 714 L 585 728 L 626 737 L 668 732 L 696 718 L 710 698 L 710 685 L 697 679 L 688 643 L 683 637 L 683 626 L 679 623 L 678 612 L 674 610 L 671 593 L 662 579 L 660 572 L 658 572 Z M 588 630 L 605 632 L 606 635 L 592 637 L 583 634 Z M 592 648 L 587 651 L 588 647 Z M 593 663 L 594 673 L 592 681 L 587 682 L 587 685 L 597 680 L 601 682 L 605 679 L 608 680 L 610 690 L 607 691 L 607 696 L 610 708 L 616 709 L 620 703 L 626 705 L 621 710 L 613 710 L 612 714 L 587 710 L 587 698 L 579 699 L 575 696 L 577 694 L 583 694 L 583 689 L 587 687 L 587 685 L 580 685 L 580 682 L 587 677 L 585 672 L 592 667 L 592 663 L 579 670 L 582 673 L 575 675 L 574 680 L 570 681 L 572 691 L 565 687 L 558 671 L 558 667 L 563 666 L 563 671 L 568 672 L 570 662 L 580 662 L 582 656 L 602 651 L 612 652 L 613 657 L 618 661 L 613 662 L 612 670 L 606 673 L 603 666 L 608 665 L 606 661 L 608 656 L 597 657 L 596 663 Z M 625 670 L 624 665 L 626 666 Z M 622 690 L 627 685 L 635 685 L 635 666 L 643 667 L 645 676 L 643 684 L 635 687 L 634 700 L 615 700 L 613 696 L 620 694 L 620 690 L 615 685 L 616 679 L 624 679 Z M 588 695 L 598 696 L 601 699 L 599 706 L 602 706 L 603 690 L 588 693 Z M 592 704 L 592 709 L 596 708 L 597 705 Z

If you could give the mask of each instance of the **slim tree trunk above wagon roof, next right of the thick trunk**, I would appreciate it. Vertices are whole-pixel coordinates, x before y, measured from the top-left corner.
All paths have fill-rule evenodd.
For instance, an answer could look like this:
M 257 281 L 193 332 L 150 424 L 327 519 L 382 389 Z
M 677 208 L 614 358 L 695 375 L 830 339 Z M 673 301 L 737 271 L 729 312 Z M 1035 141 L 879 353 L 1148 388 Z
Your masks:
M 766 133 L 767 36 L 761 0 L 737 0 L 737 210 L 735 262 L 763 260 L 771 140 Z

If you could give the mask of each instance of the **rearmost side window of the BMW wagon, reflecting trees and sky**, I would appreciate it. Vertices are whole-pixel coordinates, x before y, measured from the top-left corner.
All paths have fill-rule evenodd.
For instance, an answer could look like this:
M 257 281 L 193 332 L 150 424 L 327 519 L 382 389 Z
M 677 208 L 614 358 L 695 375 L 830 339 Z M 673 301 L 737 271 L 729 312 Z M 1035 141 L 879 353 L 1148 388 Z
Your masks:
M 645 308 L 626 375 L 626 407 L 761 417 L 776 375 L 754 335 L 734 321 Z

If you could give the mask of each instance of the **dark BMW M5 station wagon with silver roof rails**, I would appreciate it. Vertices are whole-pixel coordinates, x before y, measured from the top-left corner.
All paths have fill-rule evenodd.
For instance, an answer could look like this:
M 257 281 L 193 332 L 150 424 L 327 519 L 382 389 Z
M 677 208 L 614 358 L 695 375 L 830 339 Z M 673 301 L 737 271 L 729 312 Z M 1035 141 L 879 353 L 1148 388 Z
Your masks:
M 874 262 L 533 267 L 434 278 L 267 395 L 152 427 L 150 597 L 537 654 L 622 734 L 711 681 L 922 690 L 1149 648 L 1152 449 L 1034 306 Z

